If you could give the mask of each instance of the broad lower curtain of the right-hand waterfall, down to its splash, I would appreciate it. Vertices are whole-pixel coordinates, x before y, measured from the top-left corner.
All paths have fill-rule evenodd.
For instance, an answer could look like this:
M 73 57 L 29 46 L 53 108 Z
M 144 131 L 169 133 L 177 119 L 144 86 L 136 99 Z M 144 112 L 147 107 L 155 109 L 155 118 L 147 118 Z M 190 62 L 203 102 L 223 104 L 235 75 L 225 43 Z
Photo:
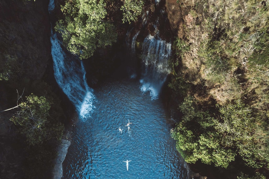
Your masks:
M 161 40 L 159 33 L 148 35 L 142 45 L 143 69 L 140 79 L 142 92 L 149 92 L 151 100 L 158 99 L 159 92 L 170 73 L 168 60 L 171 43 Z

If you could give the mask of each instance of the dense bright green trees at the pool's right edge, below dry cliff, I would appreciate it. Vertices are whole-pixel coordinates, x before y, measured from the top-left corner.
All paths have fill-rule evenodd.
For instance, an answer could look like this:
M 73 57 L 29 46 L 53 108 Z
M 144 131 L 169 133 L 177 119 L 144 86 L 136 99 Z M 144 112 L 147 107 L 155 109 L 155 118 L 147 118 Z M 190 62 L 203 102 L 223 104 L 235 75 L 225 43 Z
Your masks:
M 188 163 L 203 163 L 226 168 L 237 153 L 251 167 L 261 167 L 254 155 L 251 110 L 237 100 L 226 106 L 216 106 L 218 115 L 198 110 L 192 97 L 179 106 L 182 121 L 171 131 L 177 149 Z

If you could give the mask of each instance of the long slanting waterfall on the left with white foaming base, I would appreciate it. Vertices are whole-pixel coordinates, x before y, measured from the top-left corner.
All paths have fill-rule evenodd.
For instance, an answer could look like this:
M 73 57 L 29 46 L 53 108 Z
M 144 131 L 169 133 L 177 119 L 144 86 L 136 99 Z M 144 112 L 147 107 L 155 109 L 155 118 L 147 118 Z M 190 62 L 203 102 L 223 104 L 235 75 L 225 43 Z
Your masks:
M 54 1 L 50 0 L 48 10 L 51 12 L 53 9 Z M 87 119 L 95 108 L 93 106 L 95 96 L 93 90 L 87 85 L 82 60 L 71 55 L 67 57 L 57 34 L 53 33 L 52 29 L 51 55 L 56 82 L 75 106 L 80 119 Z

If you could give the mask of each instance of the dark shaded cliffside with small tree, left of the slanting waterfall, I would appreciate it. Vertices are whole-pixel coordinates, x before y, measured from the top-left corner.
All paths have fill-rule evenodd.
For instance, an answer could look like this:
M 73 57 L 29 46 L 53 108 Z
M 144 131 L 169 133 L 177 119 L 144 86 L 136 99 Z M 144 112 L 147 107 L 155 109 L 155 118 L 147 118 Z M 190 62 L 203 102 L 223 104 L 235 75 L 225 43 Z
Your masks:
M 47 1 L 0 4 L 0 111 L 17 106 L 0 113 L 0 178 L 50 178 L 65 116 L 46 74 L 51 58 Z M 24 91 L 22 97 L 16 89 Z

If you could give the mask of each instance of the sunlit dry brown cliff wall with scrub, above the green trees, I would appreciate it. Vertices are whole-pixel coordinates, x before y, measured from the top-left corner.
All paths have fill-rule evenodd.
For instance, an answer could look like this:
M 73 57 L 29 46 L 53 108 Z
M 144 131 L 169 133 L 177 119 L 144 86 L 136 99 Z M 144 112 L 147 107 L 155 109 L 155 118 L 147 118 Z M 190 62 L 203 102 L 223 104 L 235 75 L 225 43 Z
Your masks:
M 187 95 L 202 108 L 236 99 L 251 107 L 257 158 L 268 163 L 268 1 L 166 0 L 166 12 L 179 39 L 172 79 L 192 86 Z M 268 167 L 257 171 L 268 177 Z

